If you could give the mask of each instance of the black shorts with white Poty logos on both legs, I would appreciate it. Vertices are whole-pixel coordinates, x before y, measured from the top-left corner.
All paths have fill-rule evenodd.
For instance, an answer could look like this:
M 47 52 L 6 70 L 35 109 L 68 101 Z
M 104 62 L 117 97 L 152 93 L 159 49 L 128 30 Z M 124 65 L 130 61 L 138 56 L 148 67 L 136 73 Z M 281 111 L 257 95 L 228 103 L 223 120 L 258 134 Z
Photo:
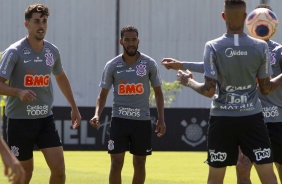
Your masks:
M 236 165 L 239 146 L 251 162 L 273 162 L 262 113 L 242 117 L 211 116 L 207 163 L 216 168 Z

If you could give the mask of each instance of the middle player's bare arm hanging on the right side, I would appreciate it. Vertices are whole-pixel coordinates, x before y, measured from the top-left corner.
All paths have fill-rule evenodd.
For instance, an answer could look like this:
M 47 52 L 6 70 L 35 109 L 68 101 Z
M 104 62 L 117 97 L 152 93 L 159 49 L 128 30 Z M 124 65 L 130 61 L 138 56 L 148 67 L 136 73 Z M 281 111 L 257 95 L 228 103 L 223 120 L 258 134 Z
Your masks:
M 166 132 L 166 124 L 164 121 L 164 96 L 161 86 L 154 87 L 156 107 L 158 111 L 158 120 L 156 122 L 155 132 L 158 137 L 162 137 Z

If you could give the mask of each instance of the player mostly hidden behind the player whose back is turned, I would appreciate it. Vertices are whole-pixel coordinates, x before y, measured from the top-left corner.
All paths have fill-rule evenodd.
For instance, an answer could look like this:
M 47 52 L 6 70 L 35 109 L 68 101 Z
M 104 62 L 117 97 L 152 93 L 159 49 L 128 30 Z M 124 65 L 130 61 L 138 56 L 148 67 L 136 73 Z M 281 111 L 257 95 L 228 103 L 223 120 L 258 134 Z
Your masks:
M 256 8 L 267 8 L 272 11 L 272 8 L 266 4 L 260 4 Z M 269 47 L 270 64 L 272 67 L 272 78 L 281 74 L 282 66 L 282 45 L 273 40 L 265 40 Z M 204 73 L 203 62 L 181 62 L 172 58 L 164 58 L 162 64 L 167 69 L 183 70 L 189 69 L 191 71 Z M 264 120 L 270 136 L 272 153 L 277 172 L 282 183 L 282 87 L 265 96 L 259 91 L 259 98 L 262 103 L 262 110 Z M 238 183 L 251 183 L 250 170 L 252 163 L 250 160 L 239 153 L 238 163 L 236 165 Z

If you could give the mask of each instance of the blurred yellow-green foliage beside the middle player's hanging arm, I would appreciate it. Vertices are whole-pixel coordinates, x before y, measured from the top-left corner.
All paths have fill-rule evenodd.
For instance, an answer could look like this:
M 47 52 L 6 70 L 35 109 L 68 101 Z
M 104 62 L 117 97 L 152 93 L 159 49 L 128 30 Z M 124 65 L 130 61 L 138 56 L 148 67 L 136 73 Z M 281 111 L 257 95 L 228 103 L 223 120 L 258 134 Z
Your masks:
M 150 107 L 155 107 L 155 93 L 152 86 L 150 87 L 151 93 L 149 97 Z M 174 82 L 162 82 L 162 90 L 164 95 L 164 105 L 169 107 L 175 99 L 176 94 L 182 90 L 182 86 L 177 81 Z

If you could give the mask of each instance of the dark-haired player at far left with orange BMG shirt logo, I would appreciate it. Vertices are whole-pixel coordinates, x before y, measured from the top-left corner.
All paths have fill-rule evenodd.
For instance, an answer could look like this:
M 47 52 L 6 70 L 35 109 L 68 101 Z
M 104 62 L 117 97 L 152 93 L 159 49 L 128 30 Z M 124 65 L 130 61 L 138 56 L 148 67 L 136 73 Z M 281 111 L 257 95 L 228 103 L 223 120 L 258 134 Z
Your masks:
M 0 95 L 8 96 L 6 141 L 25 170 L 25 183 L 32 177 L 34 145 L 50 168 L 49 182 L 66 180 L 63 147 L 51 110 L 51 73 L 70 103 L 72 127 L 77 128 L 81 121 L 60 52 L 44 39 L 48 16 L 49 9 L 42 4 L 32 4 L 25 10 L 28 34 L 4 51 L 0 66 Z

